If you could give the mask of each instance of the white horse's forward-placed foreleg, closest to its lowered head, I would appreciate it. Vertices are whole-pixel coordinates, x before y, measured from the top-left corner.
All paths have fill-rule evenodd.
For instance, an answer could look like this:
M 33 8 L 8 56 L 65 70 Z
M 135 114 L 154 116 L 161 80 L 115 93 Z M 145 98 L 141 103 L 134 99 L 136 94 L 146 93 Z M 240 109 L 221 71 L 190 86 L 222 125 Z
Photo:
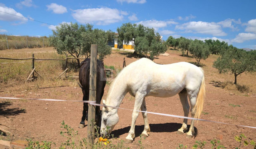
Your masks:
M 135 138 L 135 122 L 139 115 L 139 112 L 135 111 L 135 110 L 139 110 L 141 108 L 144 97 L 145 97 L 145 94 L 141 94 L 140 92 L 136 93 L 134 111 L 132 112 L 132 124 L 131 124 L 130 131 L 128 133 L 128 136 L 126 136 L 126 138 L 125 138 L 126 143 L 131 143 L 133 141 L 133 139 Z

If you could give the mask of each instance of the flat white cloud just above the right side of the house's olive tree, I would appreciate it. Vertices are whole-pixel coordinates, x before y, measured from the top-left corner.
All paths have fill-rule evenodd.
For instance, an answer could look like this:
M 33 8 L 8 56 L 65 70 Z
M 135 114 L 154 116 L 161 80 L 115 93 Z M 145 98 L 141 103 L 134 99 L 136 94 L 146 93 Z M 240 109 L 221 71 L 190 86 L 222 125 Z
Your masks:
M 142 24 L 146 27 L 153 27 L 154 29 L 162 28 L 162 27 L 167 27 L 167 25 L 171 24 L 178 24 L 177 22 L 174 21 L 157 21 L 157 20 L 147 20 L 147 21 L 140 21 L 137 22 L 136 24 Z

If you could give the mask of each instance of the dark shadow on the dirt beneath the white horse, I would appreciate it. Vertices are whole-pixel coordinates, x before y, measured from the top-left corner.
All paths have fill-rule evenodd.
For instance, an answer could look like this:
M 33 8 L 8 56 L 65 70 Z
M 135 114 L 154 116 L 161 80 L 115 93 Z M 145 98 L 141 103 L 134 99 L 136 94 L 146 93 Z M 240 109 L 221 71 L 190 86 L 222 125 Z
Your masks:
M 150 125 L 150 132 L 176 132 L 178 131 L 178 129 L 181 128 L 182 124 L 180 123 L 165 123 L 165 124 L 149 124 Z M 187 125 L 187 127 L 189 128 L 190 125 Z M 113 134 L 113 136 L 115 138 L 119 138 L 122 134 L 128 133 L 130 130 L 130 126 L 125 127 L 125 128 L 121 128 L 121 129 L 117 129 L 117 130 L 113 130 L 111 132 L 111 134 Z M 140 136 L 140 134 L 143 132 L 144 130 L 144 125 L 136 125 L 135 126 L 135 138 Z M 185 131 L 184 133 L 188 132 L 189 130 Z M 194 127 L 194 137 L 197 136 L 197 128 Z

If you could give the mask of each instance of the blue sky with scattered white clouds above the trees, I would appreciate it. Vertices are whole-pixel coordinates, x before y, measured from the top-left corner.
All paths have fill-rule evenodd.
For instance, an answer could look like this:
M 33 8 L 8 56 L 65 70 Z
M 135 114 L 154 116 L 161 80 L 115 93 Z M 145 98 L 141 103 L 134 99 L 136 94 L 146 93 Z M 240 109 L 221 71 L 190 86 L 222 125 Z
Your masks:
M 0 34 L 49 36 L 68 22 L 116 32 L 130 22 L 153 27 L 163 40 L 219 39 L 256 49 L 255 10 L 256 0 L 1 0 Z

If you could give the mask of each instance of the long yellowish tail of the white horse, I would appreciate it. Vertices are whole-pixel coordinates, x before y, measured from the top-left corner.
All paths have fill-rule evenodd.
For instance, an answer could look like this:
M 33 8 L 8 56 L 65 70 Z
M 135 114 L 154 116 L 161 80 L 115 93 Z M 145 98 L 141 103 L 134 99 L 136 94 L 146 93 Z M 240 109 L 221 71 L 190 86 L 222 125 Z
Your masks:
M 201 71 L 204 73 L 203 69 L 201 69 Z M 195 117 L 194 118 L 200 118 L 200 115 L 201 115 L 201 113 L 203 111 L 205 91 L 206 91 L 205 90 L 205 82 L 204 82 L 204 76 L 203 76 L 202 82 L 201 82 L 201 86 L 200 86 L 200 90 L 199 90 L 199 92 L 197 94 L 195 107 L 192 110 L 195 113 Z

